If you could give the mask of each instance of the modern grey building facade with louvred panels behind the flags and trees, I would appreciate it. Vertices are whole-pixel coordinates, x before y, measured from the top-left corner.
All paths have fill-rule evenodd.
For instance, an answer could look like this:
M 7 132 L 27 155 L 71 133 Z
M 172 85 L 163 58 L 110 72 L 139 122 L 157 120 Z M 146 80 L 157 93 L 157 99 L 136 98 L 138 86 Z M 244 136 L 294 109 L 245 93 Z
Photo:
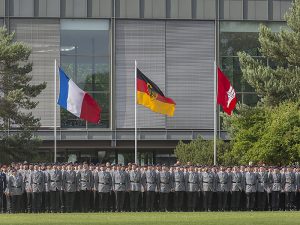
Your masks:
M 254 57 L 258 27 L 278 31 L 292 0 L 0 0 L 0 24 L 32 47 L 34 82 L 47 82 L 34 114 L 40 152 L 58 160 L 134 160 L 134 60 L 177 103 L 175 116 L 138 106 L 139 162 L 173 160 L 179 140 L 213 137 L 214 61 L 238 100 L 258 97 L 242 80 L 237 52 Z M 56 107 L 54 61 L 102 107 L 89 124 Z M 59 85 L 58 77 L 56 79 Z M 219 109 L 220 110 L 220 109 Z M 228 138 L 219 118 L 219 136 Z M 12 131 L 12 132 L 17 132 Z

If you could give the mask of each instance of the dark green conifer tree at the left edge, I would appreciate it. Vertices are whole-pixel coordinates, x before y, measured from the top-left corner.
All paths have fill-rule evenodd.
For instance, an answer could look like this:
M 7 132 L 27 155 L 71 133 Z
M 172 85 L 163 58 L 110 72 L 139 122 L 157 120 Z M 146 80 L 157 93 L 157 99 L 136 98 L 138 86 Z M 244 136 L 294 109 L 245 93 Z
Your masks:
M 15 34 L 0 29 L 0 161 L 30 160 L 40 140 L 34 132 L 40 120 L 32 110 L 46 83 L 33 84 L 32 63 L 28 63 L 31 49 L 14 41 Z

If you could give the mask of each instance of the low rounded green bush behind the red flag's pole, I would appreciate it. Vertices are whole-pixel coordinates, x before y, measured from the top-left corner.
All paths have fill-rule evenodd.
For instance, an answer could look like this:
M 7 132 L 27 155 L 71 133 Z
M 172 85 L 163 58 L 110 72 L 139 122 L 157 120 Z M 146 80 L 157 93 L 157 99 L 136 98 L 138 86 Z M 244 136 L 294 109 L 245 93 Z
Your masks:
M 229 150 L 229 143 L 222 140 L 217 141 L 218 159 L 219 164 L 232 164 L 230 158 L 225 154 Z M 191 162 L 193 164 L 213 165 L 214 164 L 214 150 L 213 141 L 204 140 L 198 137 L 189 143 L 179 141 L 174 153 L 181 163 L 186 164 Z

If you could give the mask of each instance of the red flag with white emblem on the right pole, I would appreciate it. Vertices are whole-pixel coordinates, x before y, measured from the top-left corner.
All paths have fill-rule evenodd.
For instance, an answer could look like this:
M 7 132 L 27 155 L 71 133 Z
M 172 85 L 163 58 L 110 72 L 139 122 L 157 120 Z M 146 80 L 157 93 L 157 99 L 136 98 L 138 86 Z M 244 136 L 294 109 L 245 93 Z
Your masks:
M 224 112 L 228 115 L 232 114 L 232 111 L 236 105 L 235 90 L 231 86 L 228 78 L 218 68 L 218 98 L 217 102 L 223 107 Z

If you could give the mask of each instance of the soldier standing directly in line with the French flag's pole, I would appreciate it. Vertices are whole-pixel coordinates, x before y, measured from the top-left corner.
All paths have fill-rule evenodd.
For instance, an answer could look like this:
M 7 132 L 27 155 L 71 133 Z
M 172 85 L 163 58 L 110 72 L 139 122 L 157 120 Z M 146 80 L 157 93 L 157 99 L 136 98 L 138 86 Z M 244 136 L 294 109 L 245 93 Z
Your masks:
M 50 190 L 50 209 L 51 212 L 59 212 L 60 207 L 60 191 L 62 190 L 62 173 L 57 168 L 57 164 L 54 164 L 49 171 L 49 190 Z

